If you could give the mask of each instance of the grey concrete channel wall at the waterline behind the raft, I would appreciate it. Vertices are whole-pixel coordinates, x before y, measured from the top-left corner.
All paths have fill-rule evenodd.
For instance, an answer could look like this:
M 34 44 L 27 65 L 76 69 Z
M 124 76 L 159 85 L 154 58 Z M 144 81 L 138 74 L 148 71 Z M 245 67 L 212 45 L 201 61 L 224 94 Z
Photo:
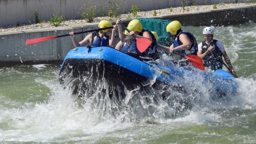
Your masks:
M 183 25 L 192 26 L 237 24 L 248 22 L 249 20 L 256 21 L 256 5 L 153 18 L 179 20 Z M 123 22 L 127 24 L 128 20 L 124 20 Z M 17 63 L 21 64 L 22 62 L 52 63 L 53 61 L 61 61 L 73 45 L 70 37 L 51 39 L 31 45 L 26 45 L 25 41 L 31 38 L 67 34 L 71 31 L 80 32 L 96 29 L 97 25 L 97 23 L 92 23 L 81 27 L 0 33 L 0 66 Z M 85 36 L 85 34 L 79 34 L 76 38 L 78 41 L 81 41 Z

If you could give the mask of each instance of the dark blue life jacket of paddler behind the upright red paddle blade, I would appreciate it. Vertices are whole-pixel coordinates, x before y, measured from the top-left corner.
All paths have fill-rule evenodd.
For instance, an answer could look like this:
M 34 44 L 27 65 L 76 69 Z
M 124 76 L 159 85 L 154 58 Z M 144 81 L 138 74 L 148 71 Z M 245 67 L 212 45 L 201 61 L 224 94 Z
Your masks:
M 139 35 L 143 36 L 144 32 L 148 32 L 150 34 L 152 44 L 150 44 L 150 46 L 148 46 L 143 53 L 140 53 L 138 50 L 135 39 L 132 42 L 125 42 L 121 48 L 121 51 L 142 61 L 155 61 L 156 59 L 160 58 L 157 51 L 157 40 L 155 39 L 154 34 L 152 34 L 152 32 L 150 32 L 148 29 L 143 29 Z

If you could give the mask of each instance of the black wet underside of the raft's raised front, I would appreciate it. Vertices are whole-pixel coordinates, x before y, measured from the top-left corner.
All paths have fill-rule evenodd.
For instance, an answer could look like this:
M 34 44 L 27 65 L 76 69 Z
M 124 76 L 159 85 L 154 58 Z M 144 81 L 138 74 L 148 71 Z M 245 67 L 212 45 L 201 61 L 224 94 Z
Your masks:
M 66 59 L 60 71 L 60 81 L 68 75 L 79 80 L 90 77 L 92 81 L 105 80 L 119 87 L 133 89 L 148 81 L 148 78 L 103 59 Z

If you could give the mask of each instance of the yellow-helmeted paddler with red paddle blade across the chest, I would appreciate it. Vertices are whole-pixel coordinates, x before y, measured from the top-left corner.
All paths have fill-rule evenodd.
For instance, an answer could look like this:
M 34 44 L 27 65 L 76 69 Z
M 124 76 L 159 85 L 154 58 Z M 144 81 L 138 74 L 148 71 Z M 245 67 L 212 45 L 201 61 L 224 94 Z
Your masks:
M 129 22 L 127 29 L 130 30 L 130 33 L 126 30 L 123 33 L 120 20 L 116 21 L 116 25 L 118 26 L 119 38 L 121 39 L 121 41 L 116 45 L 116 49 L 142 61 L 154 61 L 160 58 L 157 51 L 157 40 L 154 34 L 152 34 L 148 29 L 143 29 L 139 20 L 132 20 Z M 133 34 L 137 38 L 146 38 L 151 41 L 150 46 L 144 52 L 141 53 L 138 51 L 136 40 L 132 37 Z

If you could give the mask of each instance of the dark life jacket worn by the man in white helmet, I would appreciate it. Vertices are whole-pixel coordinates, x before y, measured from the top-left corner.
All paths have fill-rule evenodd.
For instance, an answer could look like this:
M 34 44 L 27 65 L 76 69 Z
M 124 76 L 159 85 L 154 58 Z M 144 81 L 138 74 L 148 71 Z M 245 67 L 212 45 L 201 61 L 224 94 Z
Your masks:
M 207 55 L 203 57 L 204 66 L 210 67 L 212 70 L 222 69 L 223 59 L 222 51 L 216 44 L 217 40 L 212 40 L 210 44 L 207 44 L 205 41 L 202 42 L 202 54 L 204 54 L 209 46 L 214 46 L 212 51 L 209 51 Z

